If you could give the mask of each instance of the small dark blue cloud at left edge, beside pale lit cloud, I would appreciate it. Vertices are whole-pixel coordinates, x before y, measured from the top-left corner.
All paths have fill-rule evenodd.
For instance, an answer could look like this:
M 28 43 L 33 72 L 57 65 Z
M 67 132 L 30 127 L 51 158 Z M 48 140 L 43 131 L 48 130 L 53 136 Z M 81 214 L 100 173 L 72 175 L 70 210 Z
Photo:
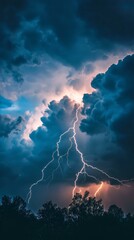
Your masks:
M 0 115 L 0 137 L 8 137 L 13 131 L 17 133 L 21 129 L 22 117 L 13 119 L 9 115 Z

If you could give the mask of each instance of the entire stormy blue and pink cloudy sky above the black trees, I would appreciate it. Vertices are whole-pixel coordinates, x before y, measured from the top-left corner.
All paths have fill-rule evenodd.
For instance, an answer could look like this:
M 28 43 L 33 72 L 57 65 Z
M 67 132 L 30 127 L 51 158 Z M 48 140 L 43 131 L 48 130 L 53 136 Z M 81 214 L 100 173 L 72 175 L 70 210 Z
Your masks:
M 94 195 L 103 183 L 105 207 L 134 211 L 133 53 L 134 0 L 0 1 L 0 197 L 26 199 L 78 117 L 78 150 L 106 174 L 87 168 L 76 192 Z M 33 187 L 31 208 L 70 201 L 82 168 L 71 136 Z

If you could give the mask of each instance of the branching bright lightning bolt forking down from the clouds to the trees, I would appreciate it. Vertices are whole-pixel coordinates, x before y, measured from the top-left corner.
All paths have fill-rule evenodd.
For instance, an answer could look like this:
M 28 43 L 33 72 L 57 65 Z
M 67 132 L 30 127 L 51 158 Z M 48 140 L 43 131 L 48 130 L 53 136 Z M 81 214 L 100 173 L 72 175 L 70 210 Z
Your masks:
M 80 151 L 79 149 L 79 146 L 78 146 L 78 143 L 77 143 L 77 139 L 76 139 L 76 124 L 78 123 L 79 121 L 79 118 L 78 118 L 78 113 L 79 113 L 79 110 L 81 109 L 81 106 L 79 105 L 77 108 L 76 108 L 76 113 L 75 113 L 75 119 L 74 119 L 74 122 L 73 122 L 73 125 L 72 127 L 69 127 L 65 132 L 63 132 L 57 143 L 56 143 L 56 150 L 52 153 L 52 158 L 51 160 L 43 167 L 43 169 L 41 170 L 41 178 L 39 180 L 37 180 L 36 182 L 34 182 L 30 188 L 29 188 L 29 192 L 27 194 L 27 202 L 28 204 L 30 203 L 30 200 L 32 198 L 32 190 L 33 190 L 33 187 L 37 186 L 39 183 L 41 183 L 43 180 L 44 180 L 44 176 L 45 176 L 45 170 L 55 161 L 55 155 L 56 157 L 58 158 L 58 164 L 57 164 L 57 167 L 52 171 L 51 173 L 51 182 L 53 181 L 53 178 L 54 178 L 54 174 L 55 172 L 60 168 L 61 170 L 61 173 L 63 174 L 62 172 L 62 168 L 61 168 L 61 159 L 63 159 L 63 157 L 66 157 L 67 158 L 67 165 L 68 167 L 69 166 L 69 153 L 70 153 L 70 150 L 72 149 L 73 147 L 73 143 L 74 143 L 74 146 L 75 146 L 75 150 L 76 152 L 78 153 L 79 157 L 80 157 L 80 161 L 81 161 L 81 164 L 82 164 L 82 167 L 80 169 L 80 171 L 78 171 L 76 173 L 76 176 L 75 176 L 75 180 L 74 180 L 74 187 L 73 187 L 73 190 L 72 190 L 72 197 L 74 197 L 75 195 L 75 192 L 77 189 L 79 189 L 79 192 L 81 192 L 81 189 L 78 187 L 77 185 L 77 182 L 80 178 L 81 175 L 85 175 L 85 176 L 88 176 L 90 178 L 93 178 L 95 181 L 97 182 L 100 182 L 100 180 L 98 178 L 96 178 L 95 176 L 93 175 L 90 175 L 88 174 L 87 172 L 87 169 L 92 169 L 94 171 L 97 171 L 99 173 L 101 173 L 102 175 L 106 176 L 109 180 L 114 180 L 116 181 L 119 185 L 126 185 L 125 182 L 130 182 L 131 180 L 133 181 L 134 179 L 128 179 L 128 180 L 120 180 L 116 177 L 113 177 L 113 176 L 110 176 L 108 173 L 106 173 L 104 170 L 100 169 L 100 168 L 97 168 L 91 164 L 88 164 L 85 160 L 84 160 L 84 156 L 83 156 L 83 153 Z M 69 141 L 70 141 L 70 146 L 68 148 L 68 150 L 63 154 L 63 155 L 60 155 L 60 144 L 62 142 L 62 138 L 64 136 L 66 136 L 68 133 L 72 132 L 72 136 L 69 137 Z M 98 187 L 98 189 L 96 190 L 94 196 L 96 197 L 97 194 L 100 192 L 100 190 L 102 189 L 103 187 L 103 184 L 104 182 L 101 181 L 101 184 L 100 186 Z M 126 185 L 128 186 L 128 185 Z

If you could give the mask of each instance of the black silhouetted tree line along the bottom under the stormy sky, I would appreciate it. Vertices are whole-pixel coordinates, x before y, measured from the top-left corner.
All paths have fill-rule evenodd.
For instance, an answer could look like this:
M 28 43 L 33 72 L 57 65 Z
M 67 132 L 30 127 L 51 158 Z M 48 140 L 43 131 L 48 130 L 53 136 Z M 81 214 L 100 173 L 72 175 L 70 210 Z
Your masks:
M 134 215 L 116 205 L 104 211 L 102 200 L 77 193 L 67 208 L 51 201 L 37 214 L 21 197 L 4 196 L 0 204 L 1 240 L 134 240 Z

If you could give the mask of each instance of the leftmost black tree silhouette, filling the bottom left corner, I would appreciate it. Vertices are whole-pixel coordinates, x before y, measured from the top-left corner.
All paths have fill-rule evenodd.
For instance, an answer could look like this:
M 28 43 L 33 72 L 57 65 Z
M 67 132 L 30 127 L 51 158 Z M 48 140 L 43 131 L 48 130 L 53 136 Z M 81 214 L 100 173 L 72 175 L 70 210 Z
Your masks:
M 21 197 L 4 196 L 0 205 L 0 232 L 3 239 L 24 239 L 32 236 L 31 223 L 34 225 L 35 216 L 26 210 L 26 203 Z M 23 231 L 25 229 L 25 231 Z M 20 234 L 21 233 L 21 234 Z M 33 237 L 33 239 L 35 239 Z

